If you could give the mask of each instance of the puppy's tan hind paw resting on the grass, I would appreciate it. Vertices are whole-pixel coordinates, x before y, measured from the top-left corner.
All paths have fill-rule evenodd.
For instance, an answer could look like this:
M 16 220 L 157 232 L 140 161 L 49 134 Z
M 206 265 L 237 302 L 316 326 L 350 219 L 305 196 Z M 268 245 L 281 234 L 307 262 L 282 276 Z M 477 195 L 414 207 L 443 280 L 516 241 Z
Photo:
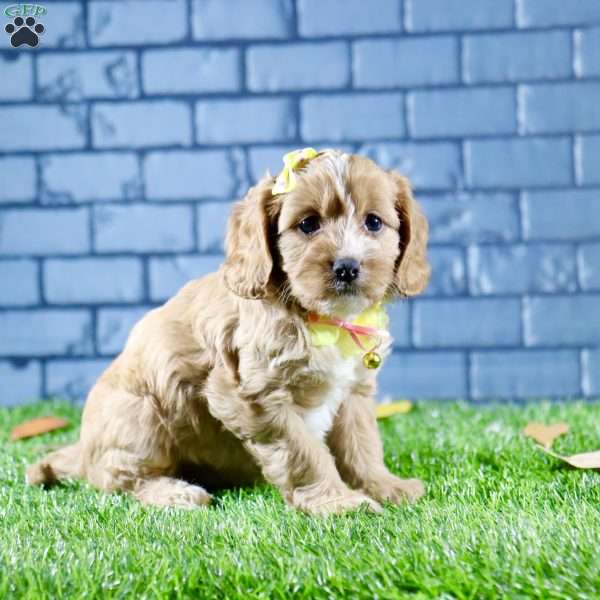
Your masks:
M 207 506 L 211 495 L 199 485 L 174 477 L 155 477 L 136 481 L 133 495 L 143 504 L 197 508 Z

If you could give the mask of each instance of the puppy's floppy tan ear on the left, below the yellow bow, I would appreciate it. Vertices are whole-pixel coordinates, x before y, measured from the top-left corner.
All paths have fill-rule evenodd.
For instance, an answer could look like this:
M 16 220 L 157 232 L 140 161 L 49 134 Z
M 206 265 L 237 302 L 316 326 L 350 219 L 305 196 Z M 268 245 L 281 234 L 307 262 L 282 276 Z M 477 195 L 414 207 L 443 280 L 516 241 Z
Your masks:
M 270 229 L 271 189 L 275 180 L 264 177 L 237 202 L 225 238 L 225 285 L 242 298 L 264 298 L 273 270 Z

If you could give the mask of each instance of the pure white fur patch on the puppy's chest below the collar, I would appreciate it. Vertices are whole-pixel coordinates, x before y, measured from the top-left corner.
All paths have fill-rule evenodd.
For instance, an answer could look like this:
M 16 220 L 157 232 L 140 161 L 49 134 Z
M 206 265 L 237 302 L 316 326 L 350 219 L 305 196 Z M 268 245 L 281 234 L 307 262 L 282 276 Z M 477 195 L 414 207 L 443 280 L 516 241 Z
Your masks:
M 357 361 L 355 358 L 342 358 L 337 349 L 328 353 L 327 381 L 329 383 L 325 394 L 319 399 L 321 404 L 307 409 L 304 422 L 307 428 L 319 439 L 323 439 L 331 426 L 340 404 L 347 397 L 350 388 L 358 380 Z

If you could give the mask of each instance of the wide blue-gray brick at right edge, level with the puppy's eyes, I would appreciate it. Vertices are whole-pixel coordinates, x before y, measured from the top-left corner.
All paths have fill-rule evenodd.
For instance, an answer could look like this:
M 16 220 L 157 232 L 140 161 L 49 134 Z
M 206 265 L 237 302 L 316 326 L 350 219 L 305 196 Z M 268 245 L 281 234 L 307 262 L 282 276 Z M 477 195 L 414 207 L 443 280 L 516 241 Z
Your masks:
M 529 240 L 584 240 L 600 235 L 600 190 L 523 194 L 523 235 Z

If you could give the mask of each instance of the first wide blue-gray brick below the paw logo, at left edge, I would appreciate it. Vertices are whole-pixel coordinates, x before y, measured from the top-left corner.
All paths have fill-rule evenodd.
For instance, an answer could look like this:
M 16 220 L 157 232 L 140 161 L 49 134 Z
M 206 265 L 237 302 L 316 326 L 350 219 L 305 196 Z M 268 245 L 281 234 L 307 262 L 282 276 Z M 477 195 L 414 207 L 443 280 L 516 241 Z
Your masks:
M 84 106 L 0 107 L 0 148 L 53 150 L 82 148 L 86 142 Z M 24 127 L 24 124 L 35 123 Z

